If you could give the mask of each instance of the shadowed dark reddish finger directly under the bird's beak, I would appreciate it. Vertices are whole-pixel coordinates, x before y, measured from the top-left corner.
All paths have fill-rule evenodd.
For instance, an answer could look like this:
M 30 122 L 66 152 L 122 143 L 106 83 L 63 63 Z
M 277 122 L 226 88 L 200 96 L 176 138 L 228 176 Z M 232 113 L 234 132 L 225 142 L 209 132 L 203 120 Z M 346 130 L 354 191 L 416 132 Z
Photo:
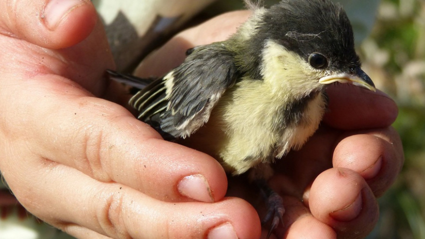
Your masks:
M 338 84 L 327 88 L 328 111 L 323 121 L 342 130 L 382 128 L 397 117 L 395 102 L 381 91 Z

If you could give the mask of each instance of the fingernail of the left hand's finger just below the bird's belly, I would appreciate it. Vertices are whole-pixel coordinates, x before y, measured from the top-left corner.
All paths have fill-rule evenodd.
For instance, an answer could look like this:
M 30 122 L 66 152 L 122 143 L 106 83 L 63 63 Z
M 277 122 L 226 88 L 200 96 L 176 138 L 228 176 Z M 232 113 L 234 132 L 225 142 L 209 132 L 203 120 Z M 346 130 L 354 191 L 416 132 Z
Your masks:
M 177 185 L 178 192 L 190 199 L 213 203 L 211 189 L 205 177 L 200 174 L 194 174 L 184 177 Z

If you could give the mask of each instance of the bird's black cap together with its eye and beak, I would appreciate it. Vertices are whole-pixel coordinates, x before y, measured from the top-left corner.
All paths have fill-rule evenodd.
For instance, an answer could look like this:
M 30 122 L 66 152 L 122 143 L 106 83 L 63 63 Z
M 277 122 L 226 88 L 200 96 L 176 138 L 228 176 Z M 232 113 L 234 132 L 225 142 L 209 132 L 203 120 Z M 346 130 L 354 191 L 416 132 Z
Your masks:
M 374 90 L 360 69 L 353 30 L 341 5 L 330 0 L 281 0 L 257 19 L 253 44 L 264 47 L 272 40 L 296 53 L 312 70 L 322 71 L 320 84 L 338 81 Z

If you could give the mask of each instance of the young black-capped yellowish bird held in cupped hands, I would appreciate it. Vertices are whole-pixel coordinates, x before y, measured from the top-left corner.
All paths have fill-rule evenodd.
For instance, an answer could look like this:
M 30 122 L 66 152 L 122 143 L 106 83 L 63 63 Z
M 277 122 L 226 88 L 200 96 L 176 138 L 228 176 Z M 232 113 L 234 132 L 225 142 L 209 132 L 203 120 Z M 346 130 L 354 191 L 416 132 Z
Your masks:
M 165 140 L 218 160 L 226 172 L 266 182 L 270 164 L 299 150 L 326 111 L 333 83 L 375 91 L 361 69 L 350 21 L 330 0 L 281 0 L 252 15 L 228 39 L 188 49 L 185 60 L 153 81 L 107 71 L 140 90 L 129 104 Z M 267 189 L 273 218 L 280 196 Z

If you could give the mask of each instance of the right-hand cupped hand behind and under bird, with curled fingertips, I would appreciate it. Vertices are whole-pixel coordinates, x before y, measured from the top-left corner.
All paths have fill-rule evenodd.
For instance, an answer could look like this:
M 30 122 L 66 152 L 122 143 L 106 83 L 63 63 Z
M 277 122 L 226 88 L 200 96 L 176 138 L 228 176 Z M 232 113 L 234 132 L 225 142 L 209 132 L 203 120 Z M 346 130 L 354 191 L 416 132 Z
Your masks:
M 181 32 L 146 57 L 136 75 L 166 73 L 181 63 L 185 49 L 224 40 L 248 15 L 226 13 Z M 376 197 L 401 169 L 401 142 L 390 126 L 395 103 L 382 92 L 352 85 L 333 85 L 327 93 L 328 112 L 319 130 L 300 151 L 273 165 L 269 184 L 286 210 L 275 238 L 364 238 L 378 219 Z M 248 200 L 263 216 L 263 201 L 245 178 L 229 178 L 228 187 L 227 195 Z

